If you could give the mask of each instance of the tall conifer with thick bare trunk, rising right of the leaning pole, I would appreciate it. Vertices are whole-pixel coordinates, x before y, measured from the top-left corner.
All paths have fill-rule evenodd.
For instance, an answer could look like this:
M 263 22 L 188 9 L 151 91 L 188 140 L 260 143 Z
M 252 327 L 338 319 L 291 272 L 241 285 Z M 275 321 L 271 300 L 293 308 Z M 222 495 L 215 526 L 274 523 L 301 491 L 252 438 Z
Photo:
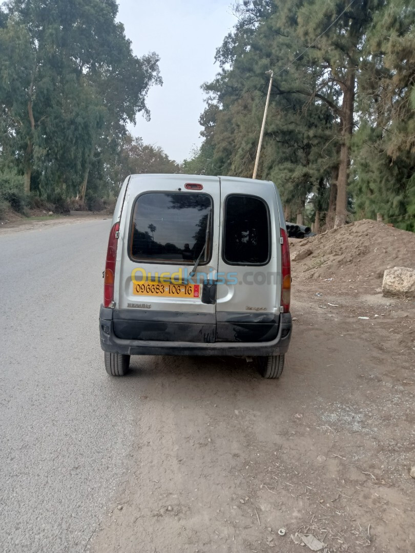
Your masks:
M 356 77 L 361 67 L 361 50 L 373 13 L 384 0 L 313 0 L 298 2 L 297 21 L 290 27 L 309 48 L 299 53 L 300 66 L 314 74 L 315 82 L 299 88 L 300 93 L 325 102 L 339 118 L 340 154 L 337 175 L 335 226 L 347 216 L 347 183 L 350 141 L 354 128 Z M 284 22 L 289 25 L 292 18 Z

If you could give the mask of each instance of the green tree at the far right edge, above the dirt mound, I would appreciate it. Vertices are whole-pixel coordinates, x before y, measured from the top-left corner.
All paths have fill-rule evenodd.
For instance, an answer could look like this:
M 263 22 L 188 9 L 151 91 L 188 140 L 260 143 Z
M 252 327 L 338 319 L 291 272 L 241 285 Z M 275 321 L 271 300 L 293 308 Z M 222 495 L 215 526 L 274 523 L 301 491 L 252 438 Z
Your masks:
M 376 13 L 362 50 L 351 188 L 357 215 L 415 231 L 415 6 Z

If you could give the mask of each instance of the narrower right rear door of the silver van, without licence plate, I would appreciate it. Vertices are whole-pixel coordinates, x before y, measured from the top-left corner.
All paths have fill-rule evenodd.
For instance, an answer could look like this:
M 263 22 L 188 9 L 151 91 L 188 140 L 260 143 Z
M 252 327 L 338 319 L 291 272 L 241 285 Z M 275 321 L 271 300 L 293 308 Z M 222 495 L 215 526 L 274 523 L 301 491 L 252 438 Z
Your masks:
M 281 298 L 281 244 L 274 185 L 231 177 L 220 180 L 216 341 L 271 341 L 278 333 Z

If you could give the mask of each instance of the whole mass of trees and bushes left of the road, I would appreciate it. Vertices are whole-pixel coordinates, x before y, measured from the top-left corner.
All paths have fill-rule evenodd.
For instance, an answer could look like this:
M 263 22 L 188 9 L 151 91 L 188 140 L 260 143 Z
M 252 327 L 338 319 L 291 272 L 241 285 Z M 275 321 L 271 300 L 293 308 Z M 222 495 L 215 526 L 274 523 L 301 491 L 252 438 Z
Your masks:
M 0 5 L 0 218 L 100 210 L 132 171 L 172 172 L 127 131 L 150 117 L 158 55 L 135 56 L 115 0 Z

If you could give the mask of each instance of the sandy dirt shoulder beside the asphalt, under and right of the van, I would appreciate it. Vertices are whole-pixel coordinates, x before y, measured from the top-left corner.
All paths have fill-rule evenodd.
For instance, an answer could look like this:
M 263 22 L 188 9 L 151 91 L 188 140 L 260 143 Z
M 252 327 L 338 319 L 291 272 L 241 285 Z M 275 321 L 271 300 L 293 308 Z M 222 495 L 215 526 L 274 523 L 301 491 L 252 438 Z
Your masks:
M 87 551 L 309 550 L 296 532 L 414 551 L 415 304 L 295 273 L 293 296 L 280 380 L 241 359 L 132 358 L 113 385 L 141 399 L 136 441 Z

